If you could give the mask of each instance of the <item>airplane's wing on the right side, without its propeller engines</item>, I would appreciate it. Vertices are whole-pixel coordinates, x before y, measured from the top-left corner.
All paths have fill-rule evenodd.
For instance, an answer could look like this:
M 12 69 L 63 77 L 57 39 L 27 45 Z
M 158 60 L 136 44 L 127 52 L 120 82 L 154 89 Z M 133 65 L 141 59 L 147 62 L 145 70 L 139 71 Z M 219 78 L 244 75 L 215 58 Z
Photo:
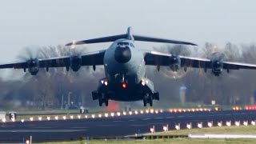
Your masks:
M 144 60 L 146 65 L 150 66 L 170 66 L 170 57 L 172 54 L 164 54 L 157 51 L 146 51 L 144 53 Z M 194 67 L 194 68 L 212 68 L 210 59 L 207 58 L 193 58 L 179 55 L 181 59 L 181 66 Z M 256 70 L 256 65 L 239 63 L 239 62 L 223 62 L 223 69 L 239 70 L 250 69 Z

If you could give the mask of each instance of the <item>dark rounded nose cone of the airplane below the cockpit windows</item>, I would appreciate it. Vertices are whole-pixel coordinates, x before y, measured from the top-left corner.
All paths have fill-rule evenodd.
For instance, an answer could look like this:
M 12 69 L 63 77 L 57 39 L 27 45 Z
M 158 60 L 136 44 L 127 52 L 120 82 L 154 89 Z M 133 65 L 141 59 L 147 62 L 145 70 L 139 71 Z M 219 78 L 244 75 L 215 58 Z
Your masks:
M 120 47 L 118 46 L 114 51 L 114 58 L 117 62 L 126 63 L 130 61 L 131 52 L 128 46 Z

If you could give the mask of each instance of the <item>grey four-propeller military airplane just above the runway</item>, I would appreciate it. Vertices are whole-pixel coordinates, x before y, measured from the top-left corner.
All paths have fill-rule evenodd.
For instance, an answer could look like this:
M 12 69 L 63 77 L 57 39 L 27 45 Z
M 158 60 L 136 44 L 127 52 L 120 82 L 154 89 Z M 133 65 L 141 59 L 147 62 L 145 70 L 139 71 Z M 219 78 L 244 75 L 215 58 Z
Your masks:
M 197 46 L 191 42 L 182 42 L 166 38 L 153 38 L 132 34 L 128 27 L 126 34 L 118 34 L 102 38 L 93 38 L 78 42 L 67 43 L 66 46 L 92 44 L 99 42 L 113 42 L 106 50 L 97 50 L 84 54 L 73 54 L 58 58 L 30 58 L 26 62 L 13 62 L 0 65 L 0 69 L 14 68 L 28 70 L 30 74 L 38 74 L 38 70 L 50 67 L 66 67 L 78 71 L 81 66 L 104 66 L 105 78 L 98 81 L 98 88 L 92 92 L 93 100 L 98 100 L 99 106 L 109 100 L 134 102 L 142 101 L 143 106 L 153 106 L 153 100 L 159 101 L 159 93 L 154 90 L 154 82 L 146 77 L 146 66 L 169 66 L 170 70 L 178 71 L 187 67 L 211 69 L 215 76 L 220 76 L 222 70 L 255 70 L 256 65 L 228 62 L 222 56 L 213 58 L 192 58 L 177 54 L 165 54 L 154 50 L 142 50 L 135 45 L 135 41 L 162 42 L 179 45 Z

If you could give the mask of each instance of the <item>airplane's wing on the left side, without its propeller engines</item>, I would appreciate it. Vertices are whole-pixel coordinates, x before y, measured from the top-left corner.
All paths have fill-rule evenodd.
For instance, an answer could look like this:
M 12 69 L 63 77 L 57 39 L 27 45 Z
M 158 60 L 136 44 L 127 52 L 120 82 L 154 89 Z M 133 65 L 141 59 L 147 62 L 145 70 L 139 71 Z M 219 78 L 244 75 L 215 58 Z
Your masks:
M 106 50 L 98 50 L 94 52 L 80 54 L 82 63 L 81 66 L 97 66 L 103 65 L 103 58 Z M 38 59 L 39 67 L 66 67 L 70 66 L 70 57 L 63 56 L 56 58 Z M 6 64 L 0 64 L 0 69 L 14 68 L 25 69 L 28 68 L 27 62 L 12 62 Z

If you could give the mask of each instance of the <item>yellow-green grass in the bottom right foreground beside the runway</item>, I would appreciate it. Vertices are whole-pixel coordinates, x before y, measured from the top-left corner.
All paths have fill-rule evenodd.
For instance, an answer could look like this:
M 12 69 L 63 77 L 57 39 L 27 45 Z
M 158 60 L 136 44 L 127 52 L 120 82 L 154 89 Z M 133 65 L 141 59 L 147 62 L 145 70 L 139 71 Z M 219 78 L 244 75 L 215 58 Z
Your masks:
M 256 134 L 256 126 L 222 126 L 222 127 L 212 127 L 212 128 L 202 128 L 202 129 L 192 129 L 192 130 L 171 130 L 169 132 L 155 133 L 153 135 L 182 135 L 182 134 Z M 145 134 L 152 135 L 152 134 Z M 102 143 L 138 143 L 138 144 L 150 144 L 150 143 L 255 143 L 255 139 L 247 138 L 222 138 L 222 139 L 198 139 L 198 138 L 169 138 L 169 139 L 142 139 L 142 140 L 79 140 L 71 142 L 46 142 L 44 144 L 80 144 L 80 143 L 90 143 L 90 144 L 102 144 Z

